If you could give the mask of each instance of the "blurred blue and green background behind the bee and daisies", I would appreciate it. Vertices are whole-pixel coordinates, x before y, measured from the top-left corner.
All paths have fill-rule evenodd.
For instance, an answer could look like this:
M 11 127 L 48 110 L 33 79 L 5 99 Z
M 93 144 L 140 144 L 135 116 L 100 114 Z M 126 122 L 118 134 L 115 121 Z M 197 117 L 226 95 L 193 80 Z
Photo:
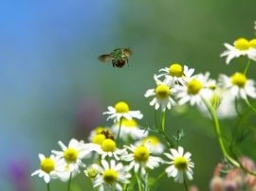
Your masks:
M 101 113 L 119 100 L 144 113 L 142 125 L 153 124 L 143 95 L 171 62 L 214 78 L 236 70 L 219 55 L 223 43 L 255 37 L 255 8 L 255 0 L 1 1 L 0 190 L 46 190 L 43 180 L 30 178 L 38 153 L 59 149 L 59 140 L 86 140 L 90 130 L 109 124 Z M 133 50 L 129 66 L 97 60 L 117 47 Z M 191 183 L 208 190 L 222 155 L 210 121 L 202 119 L 170 113 L 167 128 L 170 136 L 185 130 L 181 144 L 196 166 Z M 88 187 L 84 180 L 77 182 Z M 167 179 L 161 184 L 183 189 Z

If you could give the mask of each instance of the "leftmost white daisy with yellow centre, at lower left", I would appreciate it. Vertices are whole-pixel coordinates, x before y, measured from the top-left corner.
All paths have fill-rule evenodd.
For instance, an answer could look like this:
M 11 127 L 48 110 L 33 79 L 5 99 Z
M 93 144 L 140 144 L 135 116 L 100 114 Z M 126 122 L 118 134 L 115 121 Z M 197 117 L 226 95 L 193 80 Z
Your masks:
M 58 158 L 54 155 L 46 157 L 44 154 L 39 154 L 40 169 L 34 171 L 31 176 L 38 175 L 40 178 L 44 178 L 46 183 L 51 179 L 58 178 Z

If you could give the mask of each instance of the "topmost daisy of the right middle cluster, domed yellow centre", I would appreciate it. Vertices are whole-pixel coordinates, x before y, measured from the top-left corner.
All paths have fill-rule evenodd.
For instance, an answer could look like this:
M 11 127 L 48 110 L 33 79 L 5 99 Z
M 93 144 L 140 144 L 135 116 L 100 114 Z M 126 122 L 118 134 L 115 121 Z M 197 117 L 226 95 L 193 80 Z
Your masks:
M 189 68 L 187 65 L 182 67 L 179 63 L 172 63 L 170 67 L 165 67 L 159 70 L 162 74 L 157 75 L 157 78 L 173 78 L 174 82 L 178 84 L 184 84 L 186 80 L 192 78 L 192 73 L 194 72 L 193 68 Z

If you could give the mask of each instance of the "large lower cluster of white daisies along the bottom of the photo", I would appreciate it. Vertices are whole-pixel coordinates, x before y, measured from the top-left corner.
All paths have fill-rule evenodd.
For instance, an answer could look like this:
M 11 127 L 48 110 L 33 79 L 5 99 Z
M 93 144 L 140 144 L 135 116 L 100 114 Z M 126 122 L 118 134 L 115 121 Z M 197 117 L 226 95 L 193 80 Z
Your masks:
M 171 153 L 164 153 L 164 144 L 137 124 L 135 118 L 143 115 L 139 111 L 130 111 L 127 103 L 120 101 L 108 109 L 109 112 L 103 114 L 109 114 L 107 118 L 113 119 L 111 128 L 92 130 L 89 143 L 71 139 L 66 147 L 59 141 L 61 151 L 52 150 L 50 157 L 39 154 L 40 169 L 32 176 L 39 175 L 46 183 L 53 179 L 66 182 L 83 171 L 99 190 L 123 190 L 133 174 L 142 179 L 149 170 L 170 165 L 166 173 L 176 182 L 183 182 L 184 176 L 192 180 L 190 153 L 183 155 L 183 148 L 180 147 L 177 150 L 172 148 Z M 118 135 L 123 143 L 119 146 L 116 142 Z M 167 161 L 164 156 L 167 156 Z

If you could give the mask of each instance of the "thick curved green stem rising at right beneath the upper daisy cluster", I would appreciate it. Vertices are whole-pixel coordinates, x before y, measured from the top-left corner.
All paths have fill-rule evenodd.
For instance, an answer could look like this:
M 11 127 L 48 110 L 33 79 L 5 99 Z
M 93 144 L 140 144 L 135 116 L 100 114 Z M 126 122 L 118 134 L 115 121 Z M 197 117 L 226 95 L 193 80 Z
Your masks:
M 223 138 L 221 135 L 221 129 L 220 129 L 220 124 L 219 124 L 216 110 L 210 105 L 210 103 L 206 99 L 203 98 L 203 101 L 204 101 L 206 107 L 208 108 L 210 115 L 212 117 L 212 120 L 214 122 L 214 128 L 217 133 L 218 141 L 219 141 L 221 150 L 224 154 L 224 157 L 229 161 L 230 164 L 235 165 L 237 167 L 241 167 L 241 165 L 229 155 L 227 149 L 225 148 L 225 144 L 224 144 L 224 141 L 223 141 Z

